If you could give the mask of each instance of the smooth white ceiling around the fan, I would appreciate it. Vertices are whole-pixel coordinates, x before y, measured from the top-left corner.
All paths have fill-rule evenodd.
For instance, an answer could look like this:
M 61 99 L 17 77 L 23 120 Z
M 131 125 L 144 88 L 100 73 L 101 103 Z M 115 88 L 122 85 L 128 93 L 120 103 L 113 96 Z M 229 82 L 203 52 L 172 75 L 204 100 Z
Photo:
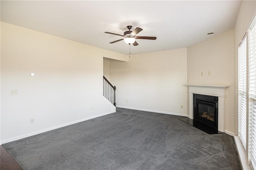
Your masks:
M 141 27 L 131 53 L 189 47 L 234 27 L 240 0 L 217 1 L 3 1 L 1 21 L 125 55 L 129 45 L 105 31 L 123 34 Z

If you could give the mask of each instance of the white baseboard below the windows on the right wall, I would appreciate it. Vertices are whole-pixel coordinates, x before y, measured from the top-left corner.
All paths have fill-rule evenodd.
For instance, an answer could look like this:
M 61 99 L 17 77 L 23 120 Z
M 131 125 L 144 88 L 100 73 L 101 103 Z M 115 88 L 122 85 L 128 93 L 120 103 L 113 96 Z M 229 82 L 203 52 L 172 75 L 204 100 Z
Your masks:
M 242 165 L 242 169 L 243 170 L 251 170 L 250 165 L 248 165 L 248 163 L 247 163 L 246 152 L 244 150 L 242 142 L 240 141 L 238 136 L 234 136 L 234 140 L 235 140 L 236 149 L 238 151 L 238 155 L 239 155 L 239 158 L 240 158 L 240 162 L 241 162 L 241 165 Z

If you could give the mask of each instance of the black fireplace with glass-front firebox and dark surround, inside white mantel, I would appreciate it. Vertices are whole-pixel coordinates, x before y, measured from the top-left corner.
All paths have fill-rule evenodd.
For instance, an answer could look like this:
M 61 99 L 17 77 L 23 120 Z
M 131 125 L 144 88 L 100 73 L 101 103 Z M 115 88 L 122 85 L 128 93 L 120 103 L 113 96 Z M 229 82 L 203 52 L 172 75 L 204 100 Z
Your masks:
M 218 129 L 218 97 L 193 95 L 194 120 Z

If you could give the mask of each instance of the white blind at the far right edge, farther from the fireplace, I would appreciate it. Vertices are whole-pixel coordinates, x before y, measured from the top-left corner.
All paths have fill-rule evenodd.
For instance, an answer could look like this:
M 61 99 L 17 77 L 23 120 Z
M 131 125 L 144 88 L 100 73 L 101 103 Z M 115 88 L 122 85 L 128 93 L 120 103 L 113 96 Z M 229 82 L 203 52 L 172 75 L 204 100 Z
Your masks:
M 252 22 L 249 29 L 249 54 L 250 54 L 250 70 L 249 70 L 249 127 L 250 127 L 250 147 L 251 162 L 256 169 L 256 21 Z

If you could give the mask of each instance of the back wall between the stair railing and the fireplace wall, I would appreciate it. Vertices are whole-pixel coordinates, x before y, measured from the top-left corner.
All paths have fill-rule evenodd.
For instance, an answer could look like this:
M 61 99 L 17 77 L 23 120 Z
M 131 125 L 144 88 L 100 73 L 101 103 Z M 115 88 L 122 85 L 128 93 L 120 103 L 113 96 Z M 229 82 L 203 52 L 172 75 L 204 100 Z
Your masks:
M 128 62 L 111 60 L 110 77 L 118 107 L 187 114 L 186 48 L 132 55 Z

